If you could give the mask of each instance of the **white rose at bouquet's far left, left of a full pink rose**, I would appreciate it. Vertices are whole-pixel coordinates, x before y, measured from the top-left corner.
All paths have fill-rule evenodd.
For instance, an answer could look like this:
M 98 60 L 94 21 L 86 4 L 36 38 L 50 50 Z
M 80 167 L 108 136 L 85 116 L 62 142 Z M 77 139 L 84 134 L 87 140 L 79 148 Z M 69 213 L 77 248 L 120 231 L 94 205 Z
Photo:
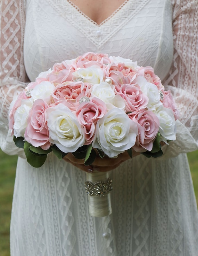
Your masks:
M 27 118 L 30 109 L 33 105 L 33 99 L 29 98 L 28 100 L 22 100 L 21 106 L 17 108 L 14 114 L 14 125 L 13 131 L 16 138 L 24 137 L 25 130 L 27 127 Z

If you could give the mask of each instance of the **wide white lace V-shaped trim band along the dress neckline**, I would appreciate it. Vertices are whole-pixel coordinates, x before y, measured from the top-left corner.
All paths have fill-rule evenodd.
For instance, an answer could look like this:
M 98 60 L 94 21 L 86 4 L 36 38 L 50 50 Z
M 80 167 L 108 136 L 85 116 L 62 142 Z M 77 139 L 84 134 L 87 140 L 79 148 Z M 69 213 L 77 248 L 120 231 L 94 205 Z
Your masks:
M 83 14 L 69 0 L 47 0 L 68 25 L 84 34 L 99 49 L 126 23 L 128 23 L 150 0 L 125 1 L 117 10 L 99 25 Z M 75 33 L 75 32 L 74 32 Z

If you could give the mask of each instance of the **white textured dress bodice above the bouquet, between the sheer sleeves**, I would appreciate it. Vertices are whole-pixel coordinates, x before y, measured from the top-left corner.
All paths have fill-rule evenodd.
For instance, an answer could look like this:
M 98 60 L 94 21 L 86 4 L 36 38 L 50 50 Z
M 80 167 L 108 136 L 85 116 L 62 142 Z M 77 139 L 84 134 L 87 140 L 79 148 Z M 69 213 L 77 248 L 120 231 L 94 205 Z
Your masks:
M 24 56 L 31 80 L 84 52 L 130 58 L 164 76 L 172 50 L 170 0 L 125 1 L 100 25 L 69 1 L 27 0 Z

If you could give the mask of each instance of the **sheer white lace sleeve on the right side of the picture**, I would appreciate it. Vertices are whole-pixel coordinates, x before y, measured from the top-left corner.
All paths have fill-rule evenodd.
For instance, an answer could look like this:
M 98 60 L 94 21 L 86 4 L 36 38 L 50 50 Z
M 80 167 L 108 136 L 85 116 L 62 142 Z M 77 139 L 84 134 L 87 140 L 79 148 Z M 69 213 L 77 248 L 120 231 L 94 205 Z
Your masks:
M 198 1 L 172 0 L 172 4 L 174 58 L 164 85 L 173 93 L 180 119 L 176 141 L 164 157 L 198 148 Z

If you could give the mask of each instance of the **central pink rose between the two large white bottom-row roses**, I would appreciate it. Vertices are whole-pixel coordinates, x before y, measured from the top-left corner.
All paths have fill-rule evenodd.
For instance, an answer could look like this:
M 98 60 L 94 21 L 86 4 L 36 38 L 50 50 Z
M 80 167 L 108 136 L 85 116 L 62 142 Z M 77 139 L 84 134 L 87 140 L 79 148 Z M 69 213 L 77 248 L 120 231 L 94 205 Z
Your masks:
M 91 102 L 82 102 L 76 110 L 76 116 L 81 125 L 83 125 L 85 145 L 93 141 L 95 125 L 98 119 L 107 113 L 105 102 L 99 98 L 92 98 Z

